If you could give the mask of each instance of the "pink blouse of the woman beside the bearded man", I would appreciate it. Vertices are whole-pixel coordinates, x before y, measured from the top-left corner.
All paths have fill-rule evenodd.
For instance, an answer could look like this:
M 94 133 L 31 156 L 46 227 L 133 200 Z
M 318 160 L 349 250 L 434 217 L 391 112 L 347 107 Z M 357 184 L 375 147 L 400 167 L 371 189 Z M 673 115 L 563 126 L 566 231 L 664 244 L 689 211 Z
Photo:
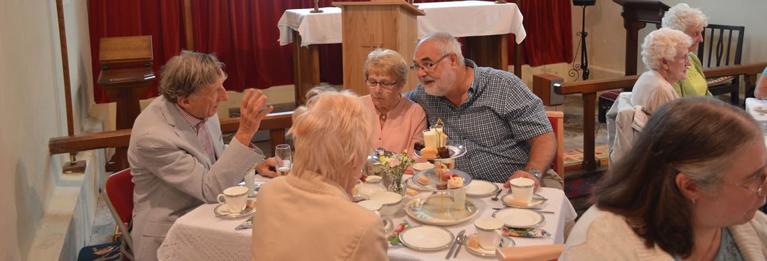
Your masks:
M 407 155 L 416 158 L 413 153 L 413 145 L 416 142 L 423 143 L 423 130 L 426 129 L 426 113 L 423 108 L 407 97 L 401 96 L 400 103 L 387 113 L 387 120 L 381 126 L 379 113 L 373 104 L 370 95 L 360 97 L 363 103 L 370 107 L 376 116 L 376 128 L 374 130 L 374 148 L 384 148 L 389 152 L 402 153 L 407 149 Z

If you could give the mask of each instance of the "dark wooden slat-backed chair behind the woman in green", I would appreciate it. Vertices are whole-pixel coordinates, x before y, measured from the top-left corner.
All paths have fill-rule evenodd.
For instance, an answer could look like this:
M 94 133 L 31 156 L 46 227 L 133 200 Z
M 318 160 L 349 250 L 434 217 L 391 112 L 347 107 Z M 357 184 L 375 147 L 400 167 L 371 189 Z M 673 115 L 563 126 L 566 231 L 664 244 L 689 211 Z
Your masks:
M 722 24 L 709 24 L 703 28 L 703 32 L 701 32 L 703 42 L 698 44 L 697 54 L 700 64 L 704 68 L 740 65 L 744 31 L 746 31 L 746 27 Z M 736 35 L 733 36 L 733 34 Z M 729 81 L 729 79 L 732 80 Z M 707 81 L 709 81 L 711 94 L 717 96 L 730 93 L 730 103 L 735 106 L 740 105 L 740 81 L 738 77 L 718 77 Z

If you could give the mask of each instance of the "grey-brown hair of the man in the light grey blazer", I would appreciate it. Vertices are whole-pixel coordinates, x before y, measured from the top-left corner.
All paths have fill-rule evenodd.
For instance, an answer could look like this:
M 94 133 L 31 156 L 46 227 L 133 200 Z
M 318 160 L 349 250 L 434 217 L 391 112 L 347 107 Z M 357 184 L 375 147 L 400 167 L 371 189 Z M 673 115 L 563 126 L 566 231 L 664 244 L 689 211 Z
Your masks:
M 212 54 L 181 51 L 170 58 L 160 72 L 160 93 L 171 103 L 187 98 L 206 86 L 216 83 L 223 73 L 224 64 Z

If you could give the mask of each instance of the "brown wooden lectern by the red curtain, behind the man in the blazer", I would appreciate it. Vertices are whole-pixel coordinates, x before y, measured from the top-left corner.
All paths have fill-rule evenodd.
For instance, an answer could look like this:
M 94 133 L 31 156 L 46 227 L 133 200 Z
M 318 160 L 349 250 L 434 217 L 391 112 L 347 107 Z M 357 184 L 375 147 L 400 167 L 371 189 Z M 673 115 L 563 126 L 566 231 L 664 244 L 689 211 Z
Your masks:
M 133 128 L 139 100 L 155 79 L 152 62 L 150 35 L 100 39 L 97 83 L 117 103 L 117 129 Z

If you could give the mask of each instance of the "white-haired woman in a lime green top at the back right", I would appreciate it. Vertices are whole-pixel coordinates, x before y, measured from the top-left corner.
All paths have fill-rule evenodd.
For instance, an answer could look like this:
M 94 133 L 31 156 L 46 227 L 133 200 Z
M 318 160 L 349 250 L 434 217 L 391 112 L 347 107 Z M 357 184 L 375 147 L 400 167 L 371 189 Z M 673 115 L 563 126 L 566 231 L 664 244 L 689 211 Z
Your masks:
M 703 65 L 700 59 L 693 53 L 698 50 L 698 44 L 703 42 L 703 28 L 709 25 L 708 18 L 698 8 L 690 8 L 690 5 L 674 5 L 663 16 L 663 28 L 683 31 L 693 40 L 690 45 L 691 67 L 687 68 L 687 79 L 672 83 L 673 89 L 680 97 L 686 96 L 711 96 L 706 76 L 703 75 Z

